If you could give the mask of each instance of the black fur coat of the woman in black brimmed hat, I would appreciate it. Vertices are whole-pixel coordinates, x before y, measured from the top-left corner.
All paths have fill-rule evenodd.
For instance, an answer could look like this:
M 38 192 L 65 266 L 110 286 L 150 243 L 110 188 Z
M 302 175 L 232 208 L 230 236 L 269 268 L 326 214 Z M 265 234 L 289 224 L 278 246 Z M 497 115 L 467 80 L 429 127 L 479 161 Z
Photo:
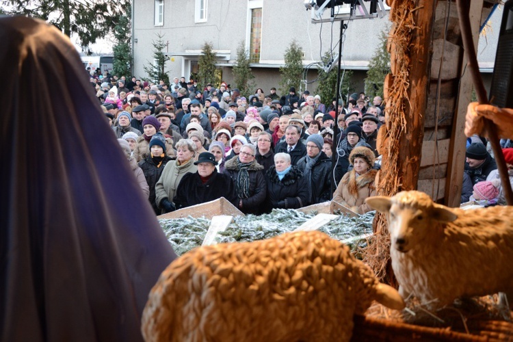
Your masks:
M 224 197 L 235 207 L 239 202 L 235 194 L 235 185 L 230 176 L 214 170 L 207 183 L 203 184 L 198 172 L 187 173 L 183 176 L 176 195 L 173 198 L 176 209 L 199 205 Z

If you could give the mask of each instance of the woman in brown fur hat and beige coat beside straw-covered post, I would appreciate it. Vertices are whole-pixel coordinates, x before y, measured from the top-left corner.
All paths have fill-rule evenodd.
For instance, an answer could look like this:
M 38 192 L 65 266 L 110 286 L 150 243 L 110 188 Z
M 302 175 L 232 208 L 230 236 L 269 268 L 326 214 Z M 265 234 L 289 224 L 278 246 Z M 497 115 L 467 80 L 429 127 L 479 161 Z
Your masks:
M 363 214 L 372 209 L 365 198 L 376 196 L 376 174 L 373 168 L 375 156 L 371 148 L 356 146 L 349 155 L 353 169 L 347 172 L 333 194 L 333 200 L 355 213 Z

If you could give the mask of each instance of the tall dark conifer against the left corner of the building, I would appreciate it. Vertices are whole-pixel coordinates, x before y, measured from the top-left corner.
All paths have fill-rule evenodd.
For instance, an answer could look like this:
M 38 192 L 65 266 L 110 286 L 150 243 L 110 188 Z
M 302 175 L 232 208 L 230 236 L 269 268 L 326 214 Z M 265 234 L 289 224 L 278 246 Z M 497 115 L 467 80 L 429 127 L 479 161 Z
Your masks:
M 131 11 L 129 3 L 127 11 Z M 122 16 L 116 27 L 114 27 L 114 37 L 116 38 L 116 46 L 114 47 L 114 75 L 126 76 L 129 78 L 132 64 L 131 53 L 131 22 L 129 17 Z

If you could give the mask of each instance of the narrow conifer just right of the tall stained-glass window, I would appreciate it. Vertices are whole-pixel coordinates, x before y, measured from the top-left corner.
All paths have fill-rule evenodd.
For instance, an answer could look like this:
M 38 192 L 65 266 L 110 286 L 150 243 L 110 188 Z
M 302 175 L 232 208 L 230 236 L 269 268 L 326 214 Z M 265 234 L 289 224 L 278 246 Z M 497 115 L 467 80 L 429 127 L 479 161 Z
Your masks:
M 289 94 L 289 88 L 299 91 L 303 79 L 303 51 L 299 44 L 293 40 L 285 51 L 285 66 L 280 67 L 280 91 Z

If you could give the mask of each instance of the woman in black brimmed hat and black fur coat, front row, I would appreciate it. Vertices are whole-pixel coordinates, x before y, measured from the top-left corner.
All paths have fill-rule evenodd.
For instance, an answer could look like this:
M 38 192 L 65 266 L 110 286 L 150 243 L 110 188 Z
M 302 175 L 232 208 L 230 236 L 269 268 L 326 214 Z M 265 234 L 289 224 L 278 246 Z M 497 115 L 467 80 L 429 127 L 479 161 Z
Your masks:
M 228 174 L 219 173 L 215 168 L 218 162 L 212 153 L 200 153 L 194 162 L 198 171 L 183 176 L 176 188 L 173 202 L 176 209 L 199 205 L 224 197 L 235 207 L 239 204 L 235 194 L 235 184 Z

